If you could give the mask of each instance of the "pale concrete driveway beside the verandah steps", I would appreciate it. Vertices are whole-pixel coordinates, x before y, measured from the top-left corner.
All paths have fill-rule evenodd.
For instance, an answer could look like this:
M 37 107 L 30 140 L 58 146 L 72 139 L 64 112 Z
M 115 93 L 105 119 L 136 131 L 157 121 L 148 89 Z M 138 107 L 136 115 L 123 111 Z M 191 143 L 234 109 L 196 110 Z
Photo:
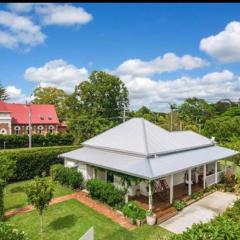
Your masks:
M 203 199 L 189 205 L 176 216 L 160 224 L 174 233 L 181 233 L 193 223 L 208 222 L 230 206 L 237 196 L 232 193 L 214 192 Z

